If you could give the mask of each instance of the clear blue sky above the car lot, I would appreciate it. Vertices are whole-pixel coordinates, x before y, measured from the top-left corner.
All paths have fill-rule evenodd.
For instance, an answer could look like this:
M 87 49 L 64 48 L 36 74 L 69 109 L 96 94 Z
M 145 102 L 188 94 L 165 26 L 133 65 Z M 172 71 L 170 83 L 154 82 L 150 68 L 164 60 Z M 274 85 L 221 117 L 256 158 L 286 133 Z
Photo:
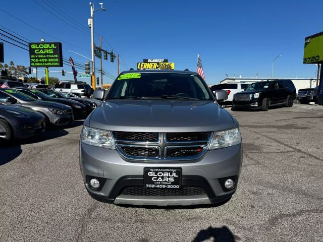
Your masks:
M 41 33 L 1 12 L 0 28 L 10 29 L 31 40 L 60 41 L 63 55 L 84 63 L 86 59 L 74 53 L 90 56 L 90 29 L 87 26 L 89 1 L 50 1 L 64 13 L 83 25 L 82 31 L 53 16 L 48 0 L 4 1 L 1 9 L 42 30 Z M 121 70 L 136 68 L 143 58 L 168 58 L 178 70 L 196 71 L 199 53 L 208 84 L 218 83 L 226 75 L 260 77 L 271 75 L 275 61 L 276 77 L 314 77 L 316 67 L 303 65 L 304 37 L 323 31 L 322 1 L 98 1 L 105 12 L 94 16 L 94 31 L 103 37 L 103 48 L 119 52 Z M 38 4 L 39 5 L 38 5 Z M 73 22 L 69 22 L 73 24 Z M 8 30 L 7 30 L 8 31 Z M 0 36 L 1 38 L 4 38 Z M 53 38 L 56 37 L 56 38 Z M 0 40 L 1 41 L 1 40 Z M 98 37 L 95 39 L 99 44 Z M 5 43 L 5 62 L 29 66 L 28 51 Z M 96 68 L 99 59 L 96 58 Z M 71 71 L 70 67 L 50 68 L 50 71 Z M 117 64 L 103 61 L 103 69 L 117 76 Z M 40 69 L 41 70 L 41 69 Z M 78 70 L 83 72 L 83 70 Z M 42 75 L 42 74 L 40 74 Z M 72 80 L 72 74 L 62 77 Z M 88 81 L 79 78 L 80 81 Z M 103 83 L 112 80 L 103 77 Z

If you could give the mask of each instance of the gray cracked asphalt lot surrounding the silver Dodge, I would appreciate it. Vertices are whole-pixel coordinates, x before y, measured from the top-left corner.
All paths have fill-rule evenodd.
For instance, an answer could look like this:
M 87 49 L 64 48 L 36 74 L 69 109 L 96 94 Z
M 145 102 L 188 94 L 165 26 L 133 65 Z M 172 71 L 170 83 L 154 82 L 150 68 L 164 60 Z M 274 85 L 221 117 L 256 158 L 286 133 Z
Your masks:
M 323 108 L 230 112 L 244 160 L 221 206 L 93 200 L 79 171 L 81 121 L 0 148 L 0 241 L 322 241 Z

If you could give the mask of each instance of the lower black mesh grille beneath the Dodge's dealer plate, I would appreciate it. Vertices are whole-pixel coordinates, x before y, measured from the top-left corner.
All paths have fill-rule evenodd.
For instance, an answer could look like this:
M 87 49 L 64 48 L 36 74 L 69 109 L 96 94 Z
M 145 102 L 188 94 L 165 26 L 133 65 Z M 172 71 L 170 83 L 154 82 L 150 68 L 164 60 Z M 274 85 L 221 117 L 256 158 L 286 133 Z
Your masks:
M 176 197 L 176 196 L 196 196 L 204 195 L 204 189 L 200 187 L 182 187 L 180 189 L 147 189 L 145 187 L 128 187 L 122 190 L 122 195 L 128 196 L 167 196 L 167 197 Z

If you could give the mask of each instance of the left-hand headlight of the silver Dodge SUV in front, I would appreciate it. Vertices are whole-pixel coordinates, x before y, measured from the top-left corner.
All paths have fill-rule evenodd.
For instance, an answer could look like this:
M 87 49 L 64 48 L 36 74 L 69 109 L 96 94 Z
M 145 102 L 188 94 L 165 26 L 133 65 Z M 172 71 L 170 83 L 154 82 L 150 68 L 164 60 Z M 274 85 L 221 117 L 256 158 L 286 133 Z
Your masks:
M 82 143 L 107 149 L 116 149 L 115 141 L 110 131 L 97 130 L 86 126 L 83 127 Z

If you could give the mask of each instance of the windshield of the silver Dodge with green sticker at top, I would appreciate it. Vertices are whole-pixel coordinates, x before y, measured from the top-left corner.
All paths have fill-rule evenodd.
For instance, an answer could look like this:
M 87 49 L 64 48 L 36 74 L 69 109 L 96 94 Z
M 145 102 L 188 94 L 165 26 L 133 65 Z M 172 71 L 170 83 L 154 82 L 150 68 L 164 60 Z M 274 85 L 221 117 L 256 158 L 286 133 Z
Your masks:
M 146 98 L 214 101 L 198 75 L 179 73 L 127 73 L 120 75 L 106 99 Z

